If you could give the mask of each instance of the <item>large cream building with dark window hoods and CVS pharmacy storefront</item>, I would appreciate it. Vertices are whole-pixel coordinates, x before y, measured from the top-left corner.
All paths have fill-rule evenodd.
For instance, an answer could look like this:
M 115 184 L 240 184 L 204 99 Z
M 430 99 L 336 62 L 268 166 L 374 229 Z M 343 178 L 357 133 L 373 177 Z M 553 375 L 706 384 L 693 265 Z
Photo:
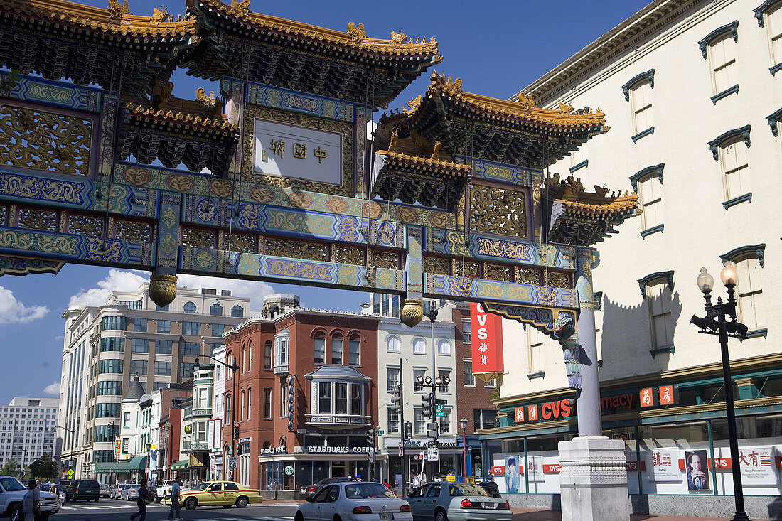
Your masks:
M 750 331 L 743 343 L 730 341 L 740 445 L 772 455 L 766 477 L 744 480 L 745 494 L 756 496 L 748 499 L 752 519 L 769 516 L 767 500 L 780 494 L 782 469 L 773 461 L 782 455 L 782 346 L 774 326 L 782 318 L 780 70 L 782 1 L 658 0 L 512 98 L 603 110 L 608 133 L 554 164 L 551 174 L 572 175 L 590 188 L 600 182 L 637 190 L 644 209 L 597 244 L 597 363 L 605 433 L 627 440 L 630 493 L 674 494 L 662 510 L 679 504 L 676 494 L 682 501 L 705 496 L 692 497 L 687 472 L 678 468 L 667 480 L 654 476 L 660 451 L 672 449 L 674 459 L 696 450 L 708 459 L 729 455 L 719 341 L 689 324 L 704 314 L 695 283 L 701 267 L 716 278 L 713 296 L 725 298 L 723 261 L 737 264 L 739 320 Z M 533 465 L 522 489 L 556 494 L 556 473 L 542 469 L 557 461 L 556 440 L 574 435 L 572 417 L 516 422 L 515 412 L 529 413 L 530 405 L 540 412 L 543 404 L 552 411 L 573 392 L 558 343 L 529 329 L 522 334 L 526 349 L 505 352 L 502 426 L 483 438 L 503 440 L 504 454 L 493 465 L 510 454 Z M 674 404 L 641 411 L 641 390 L 665 393 L 669 385 L 678 391 Z M 627 404 L 630 395 L 635 401 Z M 708 474 L 712 495 L 732 494 L 730 470 Z M 504 476 L 495 480 L 505 486 Z M 698 515 L 724 513 L 715 501 Z M 655 505 L 650 500 L 648 508 Z

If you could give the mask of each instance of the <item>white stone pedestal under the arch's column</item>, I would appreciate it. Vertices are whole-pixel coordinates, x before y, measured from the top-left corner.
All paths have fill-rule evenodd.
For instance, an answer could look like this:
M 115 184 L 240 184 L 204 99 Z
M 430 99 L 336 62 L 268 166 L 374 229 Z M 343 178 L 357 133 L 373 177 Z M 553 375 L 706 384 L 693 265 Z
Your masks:
M 625 443 L 603 436 L 559 443 L 562 521 L 628 521 Z

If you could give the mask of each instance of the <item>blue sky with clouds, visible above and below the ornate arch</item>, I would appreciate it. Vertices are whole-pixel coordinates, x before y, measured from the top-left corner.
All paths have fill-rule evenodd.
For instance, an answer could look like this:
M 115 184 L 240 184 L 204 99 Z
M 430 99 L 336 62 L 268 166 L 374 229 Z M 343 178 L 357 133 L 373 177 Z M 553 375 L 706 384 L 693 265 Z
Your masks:
M 89 0 L 105 7 L 108 0 Z M 131 0 L 131 13 L 149 15 L 160 3 Z M 592 2 L 463 2 L 419 1 L 341 2 L 309 0 L 260 2 L 251 9 L 274 16 L 346 31 L 351 21 L 364 23 L 370 38 L 390 38 L 404 31 L 413 38 L 435 37 L 443 63 L 441 74 L 461 77 L 468 92 L 507 99 L 546 74 L 601 34 L 641 9 L 640 0 Z M 184 2 L 166 2 L 171 14 L 185 12 Z M 174 95 L 195 98 L 195 88 L 217 92 L 208 81 L 178 71 L 172 78 Z M 419 78 L 396 99 L 392 109 L 422 94 L 429 74 Z M 378 114 L 379 116 L 379 114 Z M 126 271 L 66 265 L 59 275 L 0 278 L 0 353 L 3 354 L 0 403 L 14 396 L 58 393 L 63 350 L 63 311 L 71 302 L 99 304 L 112 289 L 135 289 L 141 276 Z M 233 289 L 255 297 L 259 308 L 264 294 L 297 293 L 305 307 L 357 311 L 369 300 L 366 293 L 314 289 L 304 286 L 268 286 L 262 282 L 204 281 L 185 277 L 181 285 Z M 47 394 L 51 393 L 51 394 Z

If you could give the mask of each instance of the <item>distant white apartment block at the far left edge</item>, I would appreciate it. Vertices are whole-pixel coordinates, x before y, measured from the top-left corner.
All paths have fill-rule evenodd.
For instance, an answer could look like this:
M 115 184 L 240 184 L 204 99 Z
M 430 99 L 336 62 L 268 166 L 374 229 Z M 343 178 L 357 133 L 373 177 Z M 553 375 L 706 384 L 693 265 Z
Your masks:
M 0 407 L 0 465 L 14 460 L 26 468 L 54 454 L 57 398 L 15 397 Z

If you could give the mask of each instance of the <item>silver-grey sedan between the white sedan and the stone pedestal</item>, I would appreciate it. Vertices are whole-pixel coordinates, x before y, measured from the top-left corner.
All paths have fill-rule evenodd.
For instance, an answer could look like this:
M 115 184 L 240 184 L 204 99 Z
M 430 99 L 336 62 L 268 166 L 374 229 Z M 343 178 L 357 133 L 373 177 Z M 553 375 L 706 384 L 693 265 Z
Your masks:
M 415 521 L 511 521 L 511 507 L 472 483 L 426 483 L 407 498 Z

